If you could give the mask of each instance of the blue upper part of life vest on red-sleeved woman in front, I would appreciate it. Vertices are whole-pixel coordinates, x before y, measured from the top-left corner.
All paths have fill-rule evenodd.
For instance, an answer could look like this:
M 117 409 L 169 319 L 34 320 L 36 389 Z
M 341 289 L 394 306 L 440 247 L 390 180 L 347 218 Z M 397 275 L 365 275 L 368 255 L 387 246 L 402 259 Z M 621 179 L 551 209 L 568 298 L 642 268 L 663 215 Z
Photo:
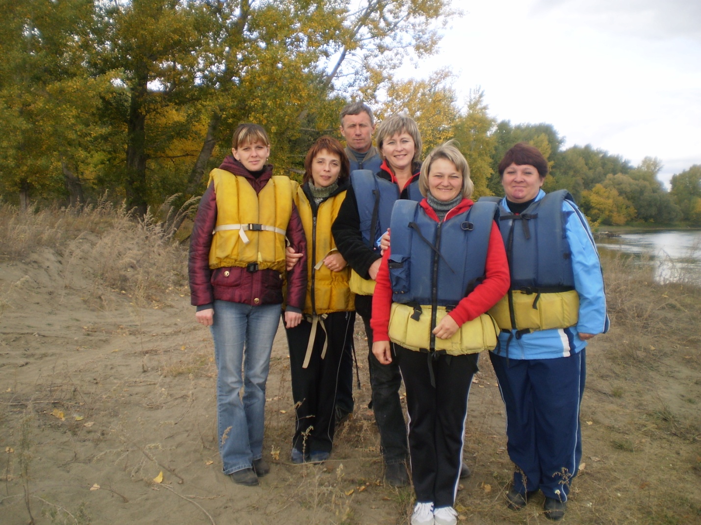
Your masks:
M 431 305 L 433 311 L 457 306 L 484 278 L 496 214 L 496 203 L 475 203 L 438 223 L 418 203 L 397 201 L 388 261 L 393 301 Z

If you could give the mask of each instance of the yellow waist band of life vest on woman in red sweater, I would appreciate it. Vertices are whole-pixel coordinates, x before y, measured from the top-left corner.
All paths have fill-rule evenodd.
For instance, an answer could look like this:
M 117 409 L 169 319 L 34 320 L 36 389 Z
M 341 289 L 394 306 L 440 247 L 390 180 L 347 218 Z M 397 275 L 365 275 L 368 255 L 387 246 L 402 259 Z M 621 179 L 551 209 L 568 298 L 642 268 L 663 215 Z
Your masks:
M 414 307 L 393 303 L 390 310 L 388 335 L 390 341 L 409 350 L 428 350 L 431 340 L 431 306 L 421 306 L 418 321 L 411 318 Z M 447 315 L 445 306 L 438 306 L 436 324 Z M 491 350 L 496 346 L 496 322 L 483 313 L 478 318 L 465 322 L 450 339 L 435 338 L 435 350 L 444 350 L 448 355 L 463 355 Z M 409 343 L 411 341 L 411 343 Z

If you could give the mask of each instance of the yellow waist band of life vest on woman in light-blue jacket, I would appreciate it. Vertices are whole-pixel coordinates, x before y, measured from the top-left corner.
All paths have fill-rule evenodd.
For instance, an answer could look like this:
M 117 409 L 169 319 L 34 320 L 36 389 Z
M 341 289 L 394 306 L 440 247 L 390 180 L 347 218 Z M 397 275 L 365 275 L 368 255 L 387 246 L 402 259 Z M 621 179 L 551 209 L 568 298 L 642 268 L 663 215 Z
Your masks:
M 515 327 L 511 325 L 509 294 L 512 294 Z M 549 293 L 511 290 L 489 313 L 503 330 L 567 328 L 576 325 L 579 319 L 579 294 L 576 290 Z

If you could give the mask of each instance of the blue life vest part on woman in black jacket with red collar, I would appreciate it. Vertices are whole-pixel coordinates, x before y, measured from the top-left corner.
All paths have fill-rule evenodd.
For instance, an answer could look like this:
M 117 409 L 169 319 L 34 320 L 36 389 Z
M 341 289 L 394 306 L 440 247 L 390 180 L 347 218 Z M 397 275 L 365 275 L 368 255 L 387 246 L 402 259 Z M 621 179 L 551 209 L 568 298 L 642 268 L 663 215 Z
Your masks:
M 370 170 L 351 172 L 351 184 L 358 202 L 360 232 L 362 240 L 370 248 L 375 248 L 376 240 L 390 226 L 392 207 L 400 198 L 400 189 L 394 182 L 377 177 Z M 423 199 L 418 190 L 418 178 L 409 184 L 409 199 L 418 202 Z

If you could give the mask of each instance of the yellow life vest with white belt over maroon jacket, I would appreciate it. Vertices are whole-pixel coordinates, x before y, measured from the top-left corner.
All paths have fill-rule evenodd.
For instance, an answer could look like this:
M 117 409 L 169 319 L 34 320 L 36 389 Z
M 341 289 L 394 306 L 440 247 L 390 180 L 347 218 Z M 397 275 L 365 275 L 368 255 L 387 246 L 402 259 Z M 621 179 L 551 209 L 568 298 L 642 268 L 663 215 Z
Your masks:
M 217 194 L 217 225 L 210 268 L 245 267 L 285 272 L 285 232 L 292 215 L 290 177 L 271 177 L 259 193 L 245 177 L 226 170 L 210 172 Z

